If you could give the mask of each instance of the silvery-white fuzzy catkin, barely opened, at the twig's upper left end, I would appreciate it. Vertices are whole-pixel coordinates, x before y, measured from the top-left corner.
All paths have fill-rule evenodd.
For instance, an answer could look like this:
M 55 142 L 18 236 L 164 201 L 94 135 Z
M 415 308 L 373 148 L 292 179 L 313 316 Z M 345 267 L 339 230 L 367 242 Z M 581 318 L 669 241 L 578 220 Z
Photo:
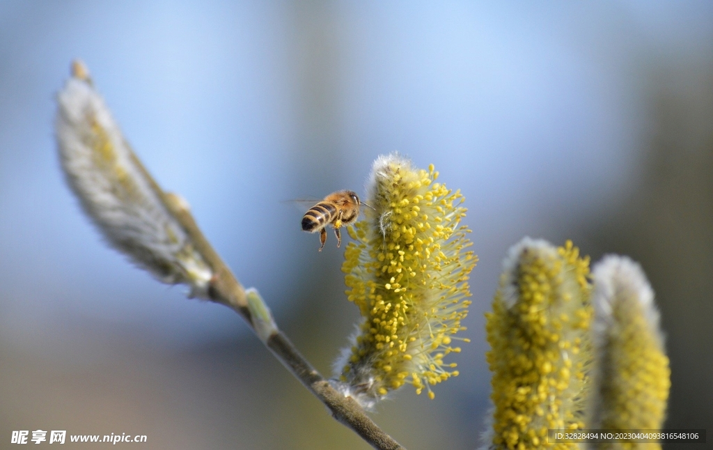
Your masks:
M 106 240 L 158 280 L 207 296 L 210 267 L 165 204 L 165 194 L 134 155 L 75 62 L 57 95 L 56 138 L 66 179 Z

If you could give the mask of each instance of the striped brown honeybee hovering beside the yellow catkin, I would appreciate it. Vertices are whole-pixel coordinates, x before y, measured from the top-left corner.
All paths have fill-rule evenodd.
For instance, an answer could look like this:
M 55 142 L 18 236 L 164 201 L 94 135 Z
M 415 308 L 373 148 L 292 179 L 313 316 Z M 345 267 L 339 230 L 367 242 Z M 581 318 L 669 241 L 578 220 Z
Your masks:
M 327 195 L 321 202 L 307 210 L 302 217 L 302 230 L 307 232 L 319 231 L 319 247 L 321 252 L 324 242 L 327 242 L 327 225 L 334 227 L 334 235 L 337 235 L 337 247 L 342 244 L 342 233 L 339 227 L 350 225 L 359 217 L 359 206 L 361 203 L 359 196 L 353 190 L 339 190 Z

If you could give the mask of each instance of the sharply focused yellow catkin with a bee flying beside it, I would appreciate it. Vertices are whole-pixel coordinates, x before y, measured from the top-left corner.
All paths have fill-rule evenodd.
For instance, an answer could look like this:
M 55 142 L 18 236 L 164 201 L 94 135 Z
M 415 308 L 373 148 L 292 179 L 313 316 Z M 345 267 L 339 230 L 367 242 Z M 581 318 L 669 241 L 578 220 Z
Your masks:
M 443 358 L 460 352 L 453 335 L 464 329 L 477 257 L 460 225 L 463 195 L 437 177 L 433 165 L 416 170 L 399 155 L 380 157 L 367 199 L 374 210 L 349 231 L 342 270 L 364 322 L 338 369 L 367 407 L 404 384 L 434 398 L 431 385 L 458 375 Z

